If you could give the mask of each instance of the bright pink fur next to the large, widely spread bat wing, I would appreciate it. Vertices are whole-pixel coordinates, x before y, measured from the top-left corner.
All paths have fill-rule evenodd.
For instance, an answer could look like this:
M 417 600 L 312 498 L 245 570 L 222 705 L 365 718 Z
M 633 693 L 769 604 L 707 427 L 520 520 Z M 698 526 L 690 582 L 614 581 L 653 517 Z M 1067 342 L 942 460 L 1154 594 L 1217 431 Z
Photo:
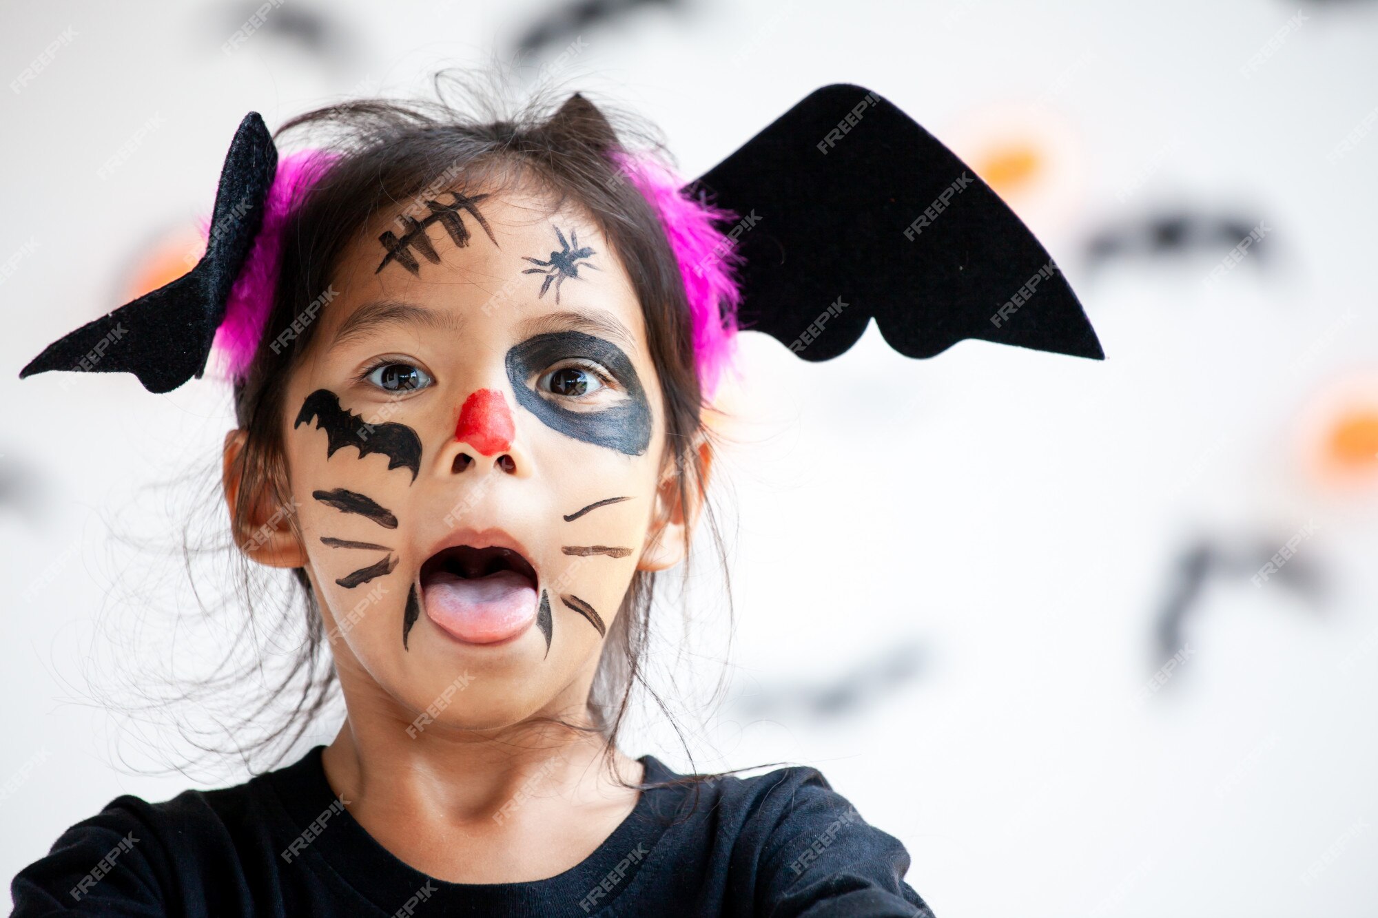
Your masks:
M 683 183 L 668 165 L 649 153 L 616 152 L 613 160 L 656 210 L 679 262 L 693 320 L 699 385 L 704 398 L 712 398 L 723 371 L 736 371 L 741 289 L 733 270 L 741 256 L 718 223 L 733 221 L 737 215 L 682 194 L 679 189 Z

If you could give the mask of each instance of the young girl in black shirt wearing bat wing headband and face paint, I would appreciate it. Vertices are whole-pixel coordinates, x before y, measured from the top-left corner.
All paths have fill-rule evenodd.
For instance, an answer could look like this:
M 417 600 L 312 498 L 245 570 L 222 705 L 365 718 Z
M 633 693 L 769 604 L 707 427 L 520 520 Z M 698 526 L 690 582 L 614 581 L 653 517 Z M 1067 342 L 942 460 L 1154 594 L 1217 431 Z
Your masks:
M 896 207 L 879 254 L 868 230 L 817 223 L 843 200 L 876 212 L 879 147 L 960 163 L 858 87 L 814 94 L 706 176 L 719 207 L 577 94 L 548 116 L 364 102 L 288 128 L 303 125 L 335 141 L 278 163 L 245 119 L 203 262 L 25 375 L 119 369 L 165 391 L 215 340 L 238 423 L 223 453 L 234 539 L 305 587 L 347 717 L 245 784 L 112 801 L 14 879 L 15 914 L 929 914 L 903 845 L 817 771 L 678 775 L 617 748 L 617 726 L 656 572 L 685 560 L 704 507 L 701 411 L 745 310 L 816 360 L 871 314 L 914 356 L 962 336 L 1079 353 L 1094 335 L 1060 277 L 1046 302 L 1020 298 L 1038 340 L 999 310 L 1039 265 L 985 272 L 943 321 L 885 313 L 872 291 L 909 270 L 885 259 L 923 251 L 933 270 L 938 249 L 896 247 L 923 238 L 930 186 L 958 176 L 930 168 L 898 204 L 881 187 Z M 819 168 L 842 178 L 803 194 Z M 970 274 L 983 233 L 1046 261 L 973 182 L 956 193 L 974 214 L 934 219 L 959 234 L 974 219 Z M 762 226 L 743 229 L 754 201 Z M 752 234 L 777 251 L 754 259 Z M 827 305 L 845 289 L 794 303 L 810 259 L 780 252 L 832 249 L 856 254 L 856 316 Z M 977 300 L 988 327 L 951 321 Z

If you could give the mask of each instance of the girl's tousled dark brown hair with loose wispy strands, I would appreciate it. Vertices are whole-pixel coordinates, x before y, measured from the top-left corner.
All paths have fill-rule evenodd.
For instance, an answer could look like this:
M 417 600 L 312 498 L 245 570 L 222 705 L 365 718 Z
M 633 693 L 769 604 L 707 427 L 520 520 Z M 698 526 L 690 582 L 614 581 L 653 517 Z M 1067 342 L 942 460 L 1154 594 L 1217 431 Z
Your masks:
M 645 313 L 649 351 L 666 405 L 667 449 L 660 473 L 670 474 L 672 463 L 681 502 L 688 502 L 690 488 L 704 489 L 704 469 L 696 447 L 704 440 L 715 441 L 717 434 L 701 419 L 693 329 L 679 266 L 655 210 L 609 159 L 616 150 L 650 147 L 659 153 L 663 146 L 634 119 L 623 113 L 609 116 L 606 108 L 595 108 L 579 94 L 558 106 L 537 95 L 514 113 L 500 114 L 496 109 L 502 103 L 493 95 L 470 92 L 475 108 L 486 113 L 478 117 L 446 101 L 446 90 L 455 84 L 451 76 L 441 74 L 434 102 L 347 102 L 295 117 L 277 132 L 280 138 L 307 131 L 328 134 L 328 143 L 313 146 L 336 152 L 340 159 L 288 218 L 267 325 L 252 363 L 234 387 L 236 418 L 247 431 L 237 459 L 241 485 L 232 521 L 236 532 L 252 528 L 249 521 L 256 507 L 291 506 L 291 496 L 281 487 L 287 481 L 282 393 L 287 378 L 313 339 L 314 325 L 306 325 L 287 347 L 274 349 L 269 342 L 277 340 L 303 309 L 327 291 L 342 254 L 379 214 L 401 210 L 418 196 L 460 185 L 500 189 L 524 182 L 526 187 L 547 192 L 553 210 L 573 201 L 597 223 L 620 256 Z M 619 128 L 613 127 L 615 120 Z M 635 139 L 637 147 L 626 146 L 624 138 Z M 291 514 L 288 518 L 295 527 L 295 518 Z M 704 521 L 728 578 L 721 533 L 707 500 Z M 686 565 L 688 542 L 686 528 Z M 276 703 L 281 703 L 282 696 L 291 699 L 288 710 L 260 736 L 234 740 L 241 754 L 277 748 L 274 765 L 302 737 L 314 715 L 328 706 L 335 682 L 329 655 L 322 653 L 321 611 L 306 572 L 299 568 L 292 575 L 295 589 L 288 591 L 287 606 L 278 612 L 298 615 L 305 601 L 306 641 L 295 649 L 291 664 L 270 689 L 277 696 Z M 248 576 L 245 571 L 244 601 L 252 618 L 255 597 Z M 655 572 L 638 571 L 633 576 L 608 633 L 590 693 L 590 710 L 597 731 L 605 737 L 609 761 L 634 686 L 642 686 L 674 724 L 672 713 L 644 674 L 655 586 Z M 728 600 L 730 622 L 730 589 Z M 721 681 L 718 688 L 722 688 Z M 271 704 L 273 699 L 249 708 L 243 724 L 267 717 Z M 675 731 L 683 742 L 677 724 Z

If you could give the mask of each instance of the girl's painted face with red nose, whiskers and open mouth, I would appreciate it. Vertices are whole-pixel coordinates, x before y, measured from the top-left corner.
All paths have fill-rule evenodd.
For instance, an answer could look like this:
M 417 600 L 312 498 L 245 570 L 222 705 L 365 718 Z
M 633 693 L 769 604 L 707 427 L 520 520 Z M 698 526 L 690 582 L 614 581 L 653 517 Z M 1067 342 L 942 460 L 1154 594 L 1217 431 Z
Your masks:
M 413 736 L 582 713 L 633 573 L 679 560 L 642 310 L 593 221 L 423 196 L 299 318 L 289 489 L 346 691 Z

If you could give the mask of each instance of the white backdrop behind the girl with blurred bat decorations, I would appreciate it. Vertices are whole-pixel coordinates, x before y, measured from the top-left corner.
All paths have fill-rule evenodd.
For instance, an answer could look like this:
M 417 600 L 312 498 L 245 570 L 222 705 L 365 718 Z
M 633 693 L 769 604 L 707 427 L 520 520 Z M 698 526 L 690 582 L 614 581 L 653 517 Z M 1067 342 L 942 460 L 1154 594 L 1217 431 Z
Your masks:
M 339 51 L 325 57 L 271 29 L 225 54 L 252 4 L 0 12 L 6 84 L 74 30 L 19 92 L 0 88 L 0 877 L 121 793 L 244 779 L 132 773 L 132 728 L 83 703 L 112 630 L 135 656 L 174 653 L 167 631 L 121 622 L 131 593 L 156 598 L 141 565 L 161 583 L 176 558 L 131 555 L 120 533 L 186 510 L 160 485 L 214 469 L 223 387 L 154 397 L 132 376 L 21 383 L 18 369 L 123 302 L 146 252 L 205 214 L 247 110 L 276 127 L 419 91 L 442 65 L 511 63 L 553 6 L 287 0 L 270 14 L 328 14 Z M 577 30 L 580 51 L 550 74 L 650 117 L 685 175 L 834 81 L 887 96 L 977 170 L 1002 145 L 1036 150 L 1007 200 L 1108 354 L 965 342 L 911 361 L 871 328 L 805 364 L 743 338 L 743 442 L 717 469 L 734 678 L 715 711 L 689 711 L 708 724 L 700 768 L 819 766 L 904 841 L 908 881 L 943 918 L 1372 914 L 1378 504 L 1371 465 L 1337 482 L 1309 458 L 1345 412 L 1378 414 L 1378 136 L 1327 159 L 1378 106 L 1375 30 L 1357 0 L 704 0 Z M 1229 240 L 1087 263 L 1105 226 L 1181 210 L 1268 232 L 1214 285 Z M 1248 571 L 1211 579 L 1189 655 L 1140 700 L 1166 660 L 1155 618 L 1184 553 L 1276 549 L 1309 522 L 1295 562 L 1323 594 L 1255 587 Z M 863 686 L 857 703 L 817 700 L 845 685 Z M 322 722 L 300 748 L 332 735 Z M 683 765 L 663 736 L 627 748 Z

